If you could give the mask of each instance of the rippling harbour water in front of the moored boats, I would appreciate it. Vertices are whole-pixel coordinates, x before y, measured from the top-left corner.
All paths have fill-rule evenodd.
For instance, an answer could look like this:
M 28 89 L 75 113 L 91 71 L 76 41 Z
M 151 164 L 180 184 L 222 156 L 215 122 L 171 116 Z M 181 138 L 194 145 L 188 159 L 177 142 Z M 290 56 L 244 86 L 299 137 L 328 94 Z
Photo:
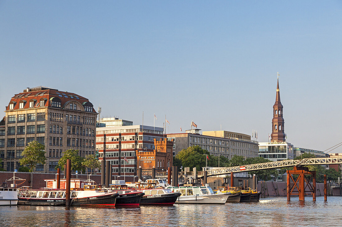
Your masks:
M 266 198 L 260 202 L 170 207 L 0 207 L 0 226 L 342 226 L 342 197 Z

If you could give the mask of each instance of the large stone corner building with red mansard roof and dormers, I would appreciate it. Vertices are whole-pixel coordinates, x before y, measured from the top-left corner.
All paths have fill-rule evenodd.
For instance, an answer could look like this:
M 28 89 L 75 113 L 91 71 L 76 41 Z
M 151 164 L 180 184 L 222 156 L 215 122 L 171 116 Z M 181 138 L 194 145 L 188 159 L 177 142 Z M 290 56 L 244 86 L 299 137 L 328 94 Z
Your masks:
M 20 167 L 22 151 L 31 141 L 45 145 L 47 161 L 35 171 L 54 172 L 68 149 L 80 156 L 95 154 L 97 113 L 88 99 L 47 87 L 27 88 L 15 94 L 0 123 L 0 158 L 4 168 Z

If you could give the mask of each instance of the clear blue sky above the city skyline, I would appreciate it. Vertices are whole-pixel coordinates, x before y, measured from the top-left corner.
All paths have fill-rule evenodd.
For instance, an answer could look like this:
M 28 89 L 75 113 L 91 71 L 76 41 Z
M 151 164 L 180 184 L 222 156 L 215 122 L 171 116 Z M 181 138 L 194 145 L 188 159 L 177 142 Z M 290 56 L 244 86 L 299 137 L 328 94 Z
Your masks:
M 87 97 L 102 117 L 342 142 L 341 1 L 1 1 L 0 106 L 27 87 Z M 154 122 L 154 114 L 157 120 Z M 5 115 L 5 113 L 3 113 Z M 342 146 L 333 153 L 342 153 Z

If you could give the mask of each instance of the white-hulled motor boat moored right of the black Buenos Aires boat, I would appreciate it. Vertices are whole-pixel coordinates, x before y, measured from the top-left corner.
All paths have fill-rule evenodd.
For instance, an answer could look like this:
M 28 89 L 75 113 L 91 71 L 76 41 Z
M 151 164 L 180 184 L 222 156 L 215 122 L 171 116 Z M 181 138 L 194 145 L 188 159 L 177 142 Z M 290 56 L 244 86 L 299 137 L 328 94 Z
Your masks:
M 232 195 L 229 193 L 214 194 L 209 186 L 184 186 L 184 187 L 168 187 L 173 192 L 180 192 L 176 203 L 207 203 L 207 204 L 224 204 L 228 197 Z

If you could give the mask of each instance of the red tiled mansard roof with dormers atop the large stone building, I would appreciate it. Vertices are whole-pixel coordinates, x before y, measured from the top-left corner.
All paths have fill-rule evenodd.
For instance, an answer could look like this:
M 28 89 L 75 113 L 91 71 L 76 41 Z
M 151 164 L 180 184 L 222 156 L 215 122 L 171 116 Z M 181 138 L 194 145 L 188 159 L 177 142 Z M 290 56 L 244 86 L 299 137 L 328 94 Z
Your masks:
M 67 97 L 65 97 L 65 96 L 67 96 Z M 37 100 L 37 102 L 39 102 L 39 100 L 41 98 L 45 98 L 45 99 L 47 99 L 48 102 L 45 103 L 44 107 L 52 107 L 50 99 L 53 97 L 58 97 L 61 100 L 61 106 L 62 107 L 68 101 L 76 101 L 76 102 L 79 102 L 81 105 L 84 102 L 89 102 L 88 99 L 86 99 L 85 97 L 82 97 L 78 94 L 75 94 L 72 92 L 58 91 L 55 89 L 21 92 L 21 93 L 15 94 L 11 98 L 10 102 L 16 102 L 14 110 L 17 110 L 17 109 L 19 109 L 19 102 L 20 101 L 26 101 L 26 104 L 25 104 L 23 109 L 28 109 L 29 108 L 29 101 L 31 99 L 35 99 L 35 100 Z M 74 98 L 71 98 L 71 97 L 74 97 Z M 6 110 L 9 110 L 9 106 L 6 106 Z M 94 108 L 93 108 L 93 112 L 96 112 Z

